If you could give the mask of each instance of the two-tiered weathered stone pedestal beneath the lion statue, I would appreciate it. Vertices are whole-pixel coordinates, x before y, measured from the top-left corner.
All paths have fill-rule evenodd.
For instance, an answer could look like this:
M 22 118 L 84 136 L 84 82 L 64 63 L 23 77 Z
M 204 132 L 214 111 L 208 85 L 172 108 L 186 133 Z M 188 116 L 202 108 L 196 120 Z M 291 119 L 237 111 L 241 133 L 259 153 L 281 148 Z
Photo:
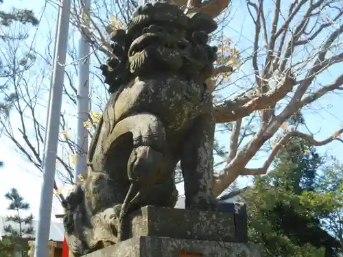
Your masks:
M 86 256 L 260 256 L 259 247 L 239 238 L 235 214 L 145 206 L 132 216 L 130 239 Z

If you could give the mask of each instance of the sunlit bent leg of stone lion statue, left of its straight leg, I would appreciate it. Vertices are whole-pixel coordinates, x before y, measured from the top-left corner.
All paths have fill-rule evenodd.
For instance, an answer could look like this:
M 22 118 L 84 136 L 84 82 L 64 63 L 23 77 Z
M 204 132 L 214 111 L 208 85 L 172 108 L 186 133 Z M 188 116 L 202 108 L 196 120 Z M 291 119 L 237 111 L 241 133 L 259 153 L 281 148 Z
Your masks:
M 129 133 L 132 135 L 130 140 L 132 140 L 133 147 L 130 156 L 127 156 L 130 188 L 128 188 L 126 197 L 121 204 L 118 241 L 128 237 L 124 218 L 128 217 L 128 214 L 133 210 L 141 207 L 142 199 L 150 191 L 150 187 L 154 185 L 154 180 L 156 180 L 158 171 L 161 169 L 163 151 L 165 150 L 163 123 L 149 112 L 132 114 L 130 117 L 119 121 L 108 137 L 104 149 L 107 151 L 115 149 L 117 145 L 122 144 L 120 138 Z

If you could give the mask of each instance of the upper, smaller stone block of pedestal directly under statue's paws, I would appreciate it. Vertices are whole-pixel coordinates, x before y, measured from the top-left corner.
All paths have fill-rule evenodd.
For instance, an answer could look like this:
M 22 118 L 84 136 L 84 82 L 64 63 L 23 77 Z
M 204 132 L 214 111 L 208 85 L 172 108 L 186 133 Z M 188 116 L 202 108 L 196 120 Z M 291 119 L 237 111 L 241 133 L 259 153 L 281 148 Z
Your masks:
M 235 217 L 231 213 L 145 206 L 132 215 L 130 236 L 237 241 Z

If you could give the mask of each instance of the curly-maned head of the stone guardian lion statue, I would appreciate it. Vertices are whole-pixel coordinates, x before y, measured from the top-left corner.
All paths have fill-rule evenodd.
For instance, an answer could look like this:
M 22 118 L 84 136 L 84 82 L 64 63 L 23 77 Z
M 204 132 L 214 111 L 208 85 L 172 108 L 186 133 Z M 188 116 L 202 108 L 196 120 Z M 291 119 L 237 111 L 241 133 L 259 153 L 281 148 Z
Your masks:
M 141 6 L 126 30 L 110 34 L 113 56 L 100 66 L 109 93 L 147 73 L 168 71 L 181 79 L 211 77 L 217 47 L 207 41 L 216 28 L 205 14 L 186 15 L 176 5 L 156 2 Z

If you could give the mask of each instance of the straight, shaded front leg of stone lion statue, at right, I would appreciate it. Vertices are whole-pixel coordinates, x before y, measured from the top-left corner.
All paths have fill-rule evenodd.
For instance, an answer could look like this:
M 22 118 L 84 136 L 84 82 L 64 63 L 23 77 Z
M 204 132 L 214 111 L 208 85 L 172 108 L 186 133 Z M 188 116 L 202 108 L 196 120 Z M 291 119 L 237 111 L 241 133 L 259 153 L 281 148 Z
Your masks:
M 182 147 L 181 169 L 185 181 L 186 208 L 214 210 L 213 140 L 211 114 L 198 117 Z

